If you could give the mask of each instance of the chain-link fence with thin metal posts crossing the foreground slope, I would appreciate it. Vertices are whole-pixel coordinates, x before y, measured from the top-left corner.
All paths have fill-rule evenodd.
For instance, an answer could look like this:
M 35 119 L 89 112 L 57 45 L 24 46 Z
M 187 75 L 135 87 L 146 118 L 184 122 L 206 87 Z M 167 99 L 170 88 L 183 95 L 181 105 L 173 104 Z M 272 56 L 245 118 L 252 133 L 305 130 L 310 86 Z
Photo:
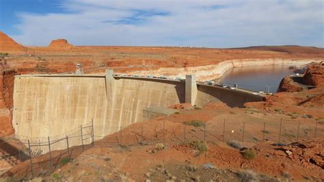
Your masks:
M 157 121 L 154 121 L 157 122 Z M 150 122 L 137 122 L 133 127 L 124 128 L 118 126 L 111 135 L 100 136 L 104 126 L 94 125 L 94 122 L 80 126 L 64 135 L 47 138 L 25 138 L 16 136 L 21 144 L 12 146 L 16 150 L 14 155 L 20 161 L 29 159 L 31 176 L 39 175 L 34 172 L 33 166 L 40 166 L 38 155 L 46 155 L 49 162 L 44 168 L 55 170 L 59 161 L 64 157 L 71 157 L 72 153 L 80 154 L 90 147 L 127 147 L 143 146 L 163 143 L 165 146 L 174 144 L 187 144 L 198 141 L 206 143 L 228 142 L 265 142 L 272 141 L 275 144 L 286 144 L 298 140 L 324 138 L 323 122 L 314 121 L 303 123 L 300 120 L 277 120 L 273 122 L 237 122 L 234 120 L 202 122 L 192 120 L 190 122 L 170 122 L 161 120 L 158 125 L 150 125 Z M 101 140 L 100 140 L 101 139 Z M 72 147 L 73 146 L 73 147 Z M 60 150 L 60 151 L 57 151 Z M 5 158 L 5 156 L 3 156 Z M 46 163 L 46 162 L 45 162 Z

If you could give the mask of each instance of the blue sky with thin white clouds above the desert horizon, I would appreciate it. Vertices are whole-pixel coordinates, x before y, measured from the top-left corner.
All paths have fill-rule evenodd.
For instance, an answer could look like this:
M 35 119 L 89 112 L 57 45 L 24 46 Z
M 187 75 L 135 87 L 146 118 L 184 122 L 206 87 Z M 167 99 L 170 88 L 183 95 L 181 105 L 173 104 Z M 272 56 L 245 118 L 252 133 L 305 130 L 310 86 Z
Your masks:
M 0 31 L 26 45 L 323 47 L 322 0 L 0 0 Z

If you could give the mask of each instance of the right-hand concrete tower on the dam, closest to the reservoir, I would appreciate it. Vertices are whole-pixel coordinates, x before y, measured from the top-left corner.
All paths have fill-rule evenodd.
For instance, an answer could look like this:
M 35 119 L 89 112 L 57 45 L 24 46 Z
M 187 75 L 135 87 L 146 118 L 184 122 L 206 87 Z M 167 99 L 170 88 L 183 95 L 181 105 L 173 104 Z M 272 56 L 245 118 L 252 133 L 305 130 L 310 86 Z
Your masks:
M 195 98 L 197 97 L 197 83 L 195 81 L 195 75 L 186 75 L 186 90 L 185 101 L 191 105 L 195 105 Z

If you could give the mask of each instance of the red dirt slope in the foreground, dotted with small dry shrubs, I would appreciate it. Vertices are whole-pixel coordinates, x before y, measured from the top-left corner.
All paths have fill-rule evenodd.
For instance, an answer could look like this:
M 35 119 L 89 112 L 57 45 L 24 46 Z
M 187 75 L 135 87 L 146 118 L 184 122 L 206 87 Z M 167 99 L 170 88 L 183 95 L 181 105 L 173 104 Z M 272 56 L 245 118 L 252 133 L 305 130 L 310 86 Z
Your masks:
M 50 174 L 59 174 L 62 179 L 68 181 L 74 180 L 90 180 L 90 179 L 127 179 L 134 181 L 144 181 L 147 179 L 145 174 L 151 172 L 157 166 L 170 165 L 195 165 L 213 164 L 216 168 L 224 169 L 230 168 L 232 170 L 253 170 L 256 173 L 266 174 L 269 177 L 282 179 L 284 174 L 288 174 L 293 180 L 301 180 L 306 177 L 321 180 L 323 176 L 323 151 L 324 140 L 319 137 L 316 140 L 304 140 L 303 142 L 292 142 L 286 146 L 273 146 L 273 142 L 249 143 L 238 142 L 243 146 L 252 148 L 256 153 L 256 158 L 252 160 L 244 159 L 240 151 L 231 148 L 226 143 L 221 142 L 213 137 L 207 135 L 208 151 L 204 155 L 198 155 L 198 151 L 189 147 L 187 144 L 179 144 L 179 138 L 183 135 L 183 121 L 200 119 L 206 122 L 206 125 L 211 126 L 208 129 L 217 129 L 218 124 L 221 124 L 223 118 L 237 118 L 240 116 L 241 120 L 254 120 L 262 117 L 264 114 L 244 114 L 241 109 L 232 108 L 229 113 L 228 109 L 201 109 L 201 110 L 185 110 L 181 109 L 180 114 L 173 114 L 164 118 L 157 118 L 146 122 L 137 122 L 129 127 L 126 127 L 123 132 L 122 147 L 118 144 L 111 143 L 120 137 L 120 132 L 107 135 L 102 140 L 95 142 L 94 148 L 87 146 L 87 151 L 81 152 L 81 146 L 74 147 L 72 152 L 72 160 L 66 166 L 58 165 L 55 170 L 47 170 L 49 165 L 49 154 L 34 158 L 34 173 L 36 176 L 42 173 L 41 177 L 44 179 L 53 178 Z M 204 117 L 202 117 L 204 116 Z M 264 117 L 263 120 L 271 122 L 275 118 L 284 117 L 284 114 L 278 114 L 275 118 L 270 115 Z M 154 144 L 161 142 L 161 125 L 165 120 L 165 144 L 166 148 L 154 151 Z M 312 123 L 311 120 L 303 120 L 306 123 Z M 213 126 L 214 125 L 214 126 Z M 141 126 L 144 130 L 144 138 L 137 142 L 134 133 L 139 132 Z M 252 129 L 246 129 L 246 132 L 253 132 L 258 130 L 254 125 L 250 125 Z M 254 127 L 254 128 L 253 128 Z M 322 129 L 324 126 L 320 126 Z M 195 129 L 196 131 L 193 131 Z M 197 140 L 191 135 L 199 135 L 200 127 L 187 126 L 187 141 Z M 271 128 L 267 131 L 275 132 Z M 174 134 L 172 134 L 174 133 Z M 159 135 L 159 136 L 157 136 Z M 229 136 L 229 133 L 226 133 Z M 220 136 L 220 135 L 219 135 Z M 178 139 L 177 139 L 178 138 Z M 232 136 L 231 136 L 232 138 Z M 234 136 L 235 138 L 235 136 Z M 239 137 L 240 138 L 240 137 Z M 287 154 L 290 151 L 291 154 Z M 60 156 L 64 159 L 64 155 L 60 155 L 56 151 L 52 156 Z M 54 161 L 57 161 L 55 159 Z M 55 162 L 54 162 L 55 164 Z M 14 174 L 18 178 L 28 179 L 31 174 L 28 168 L 29 161 L 24 161 L 11 168 L 4 174 L 3 177 Z M 170 173 L 176 177 L 176 172 L 170 170 Z M 203 173 L 202 173 L 203 174 Z

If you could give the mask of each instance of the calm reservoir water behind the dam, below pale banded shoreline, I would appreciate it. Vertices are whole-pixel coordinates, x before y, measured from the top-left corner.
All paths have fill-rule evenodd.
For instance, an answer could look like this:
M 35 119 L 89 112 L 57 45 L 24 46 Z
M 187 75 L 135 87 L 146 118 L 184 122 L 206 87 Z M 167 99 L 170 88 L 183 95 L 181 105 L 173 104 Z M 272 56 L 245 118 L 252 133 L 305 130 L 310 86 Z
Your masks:
M 230 68 L 217 81 L 226 84 L 237 84 L 239 88 L 248 90 L 265 91 L 269 87 L 269 92 L 277 92 L 282 78 L 293 75 L 293 70 L 289 70 L 289 65 L 273 66 L 241 66 Z

